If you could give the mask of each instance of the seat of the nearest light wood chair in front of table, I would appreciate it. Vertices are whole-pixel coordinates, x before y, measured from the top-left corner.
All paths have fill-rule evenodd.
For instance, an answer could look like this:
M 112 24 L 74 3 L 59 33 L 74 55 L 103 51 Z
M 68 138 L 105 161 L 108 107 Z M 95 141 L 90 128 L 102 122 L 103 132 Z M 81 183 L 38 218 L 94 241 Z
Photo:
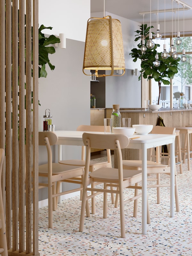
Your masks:
M 136 171 L 136 170 L 123 170 L 123 180 L 128 180 L 128 179 L 134 179 L 134 177 L 137 177 L 140 175 L 141 177 L 141 171 Z M 119 173 L 118 173 L 118 169 L 116 168 L 100 168 L 94 172 L 91 172 L 89 174 L 89 176 L 91 178 L 94 179 L 102 179 L 102 180 L 106 180 L 109 182 L 119 182 Z M 133 182 L 130 184 L 132 185 L 133 183 L 135 183 L 135 181 L 133 180 Z

